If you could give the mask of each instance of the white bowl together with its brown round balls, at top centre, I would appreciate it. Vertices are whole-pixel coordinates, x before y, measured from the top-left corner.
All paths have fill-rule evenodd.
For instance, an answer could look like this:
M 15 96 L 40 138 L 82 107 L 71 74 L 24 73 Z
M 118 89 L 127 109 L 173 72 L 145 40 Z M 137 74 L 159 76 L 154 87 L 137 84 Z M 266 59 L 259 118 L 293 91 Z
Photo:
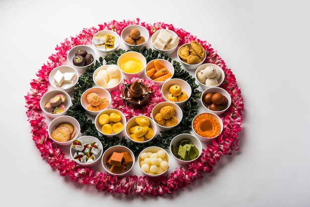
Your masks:
M 145 27 L 133 24 L 125 27 L 120 37 L 129 49 L 131 47 L 142 48 L 148 42 L 150 33 Z

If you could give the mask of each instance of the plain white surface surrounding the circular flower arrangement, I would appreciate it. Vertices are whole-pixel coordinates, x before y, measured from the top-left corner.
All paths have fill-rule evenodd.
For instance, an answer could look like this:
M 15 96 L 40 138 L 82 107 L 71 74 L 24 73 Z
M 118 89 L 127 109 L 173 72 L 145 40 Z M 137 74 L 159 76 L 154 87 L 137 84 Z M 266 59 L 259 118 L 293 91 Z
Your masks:
M 310 206 L 307 4 L 147 2 L 0 0 L 1 206 Z M 111 195 L 60 176 L 32 141 L 24 107 L 29 82 L 56 45 L 83 28 L 136 18 L 207 40 L 235 74 L 245 104 L 240 151 L 203 179 L 156 198 Z

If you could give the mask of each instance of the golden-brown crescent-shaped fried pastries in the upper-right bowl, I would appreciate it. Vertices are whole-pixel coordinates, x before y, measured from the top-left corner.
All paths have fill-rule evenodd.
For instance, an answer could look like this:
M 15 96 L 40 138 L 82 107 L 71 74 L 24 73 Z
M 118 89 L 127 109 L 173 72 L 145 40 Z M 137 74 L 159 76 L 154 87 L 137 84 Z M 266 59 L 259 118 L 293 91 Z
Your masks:
M 191 48 L 184 46 L 179 49 L 179 57 L 188 64 L 198 64 L 203 61 L 206 56 L 206 50 L 196 41 L 191 42 Z

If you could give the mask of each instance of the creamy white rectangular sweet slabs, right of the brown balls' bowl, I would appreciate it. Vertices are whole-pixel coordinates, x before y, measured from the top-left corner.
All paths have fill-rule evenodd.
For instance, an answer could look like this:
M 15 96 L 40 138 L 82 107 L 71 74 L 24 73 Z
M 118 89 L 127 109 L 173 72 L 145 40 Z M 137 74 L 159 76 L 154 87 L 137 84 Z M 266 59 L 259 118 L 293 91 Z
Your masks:
M 153 45 L 159 50 L 170 50 L 178 46 L 179 40 L 179 36 L 173 36 L 167 30 L 161 29 Z

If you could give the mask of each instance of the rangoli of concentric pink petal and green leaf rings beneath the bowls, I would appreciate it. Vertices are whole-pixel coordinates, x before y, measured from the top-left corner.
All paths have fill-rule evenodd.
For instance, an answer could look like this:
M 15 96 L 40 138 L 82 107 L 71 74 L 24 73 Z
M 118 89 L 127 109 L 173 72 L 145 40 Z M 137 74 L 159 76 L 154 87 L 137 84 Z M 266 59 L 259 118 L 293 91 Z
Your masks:
M 111 176 L 107 173 L 94 171 L 91 167 L 83 167 L 78 165 L 74 160 L 65 158 L 65 153 L 62 150 L 52 143 L 52 140 L 49 138 L 47 129 L 48 125 L 45 121 L 45 116 L 41 114 L 40 108 L 40 99 L 41 97 L 48 91 L 49 84 L 49 74 L 53 68 L 60 66 L 67 58 L 67 52 L 76 45 L 86 45 L 92 42 L 92 37 L 98 31 L 103 29 L 113 30 L 117 34 L 121 34 L 121 31 L 128 25 L 131 24 L 139 24 L 144 26 L 150 32 L 150 36 L 159 29 L 169 29 L 174 31 L 180 37 L 180 44 L 188 43 L 193 40 L 199 42 L 206 50 L 207 58 L 205 63 L 214 63 L 219 65 L 225 72 L 225 81 L 221 85 L 221 88 L 225 89 L 231 96 L 232 104 L 229 109 L 221 115 L 221 119 L 223 120 L 224 130 L 222 134 L 209 143 L 206 146 L 206 149 L 203 150 L 202 155 L 197 159 L 197 161 L 189 164 L 188 166 L 181 166 L 180 168 L 176 168 L 174 172 L 170 175 L 164 175 L 160 177 L 148 177 L 148 176 L 137 176 L 130 175 L 127 177 L 116 177 Z M 126 195 L 138 195 L 138 196 L 162 196 L 164 194 L 171 194 L 177 189 L 181 189 L 189 185 L 194 180 L 200 179 L 203 177 L 203 173 L 208 173 L 213 170 L 213 166 L 216 165 L 217 161 L 220 160 L 223 155 L 231 155 L 233 151 L 239 150 L 238 147 L 238 133 L 241 131 L 242 124 L 242 111 L 244 109 L 243 99 L 241 97 L 241 91 L 236 82 L 235 76 L 232 71 L 226 68 L 226 64 L 224 60 L 215 52 L 210 44 L 206 41 L 201 41 L 197 39 L 196 36 L 191 35 L 190 33 L 184 31 L 183 29 L 174 28 L 171 24 L 166 23 L 154 23 L 148 24 L 144 22 L 140 22 L 140 19 L 136 19 L 134 21 L 111 21 L 108 23 L 100 24 L 99 28 L 88 28 L 83 29 L 81 33 L 76 35 L 75 37 L 71 37 L 70 39 L 66 39 L 63 43 L 56 47 L 56 53 L 52 54 L 49 57 L 49 60 L 46 64 L 42 66 L 42 68 L 38 71 L 37 78 L 31 80 L 30 91 L 25 96 L 26 99 L 26 114 L 28 116 L 28 121 L 32 126 L 32 139 L 35 142 L 37 148 L 41 152 L 41 156 L 47 160 L 52 168 L 56 168 L 60 175 L 67 176 L 72 179 L 74 182 L 79 183 L 80 185 L 93 185 L 98 190 L 110 192 L 110 193 L 123 193 Z M 117 51 L 117 52 L 125 52 L 125 51 Z M 117 53 L 116 52 L 116 53 Z M 143 48 L 141 51 L 145 56 L 149 58 L 165 58 L 169 59 L 169 56 L 154 53 L 152 49 Z M 152 53 L 153 52 L 153 53 Z M 150 53 L 152 53 L 150 55 Z M 117 57 L 117 56 L 116 56 Z M 104 57 L 108 63 L 112 62 L 115 56 L 107 55 Z M 170 58 L 171 61 L 171 58 Z M 113 139 L 106 141 L 102 137 L 98 136 L 96 128 L 94 128 L 94 124 L 92 124 L 90 119 L 87 119 L 81 113 L 81 106 L 79 106 L 78 102 L 75 100 L 79 100 L 79 96 L 81 96 L 80 92 L 86 90 L 87 88 L 92 87 L 91 75 L 94 69 L 103 64 L 103 57 L 100 60 L 96 61 L 94 66 L 91 66 L 87 69 L 87 71 L 81 75 L 79 78 L 79 84 L 76 87 L 75 92 L 73 93 L 72 106 L 70 107 L 69 114 L 74 116 L 79 120 L 79 122 L 83 121 L 81 125 L 81 133 L 85 135 L 92 135 L 100 138 L 103 143 L 103 150 L 106 150 L 108 147 L 112 145 L 125 145 L 131 148 L 134 153 L 137 153 L 141 150 L 141 148 L 147 146 L 139 146 L 135 145 L 132 142 L 127 142 L 124 138 L 113 137 Z M 201 92 L 199 92 L 196 88 L 198 87 L 193 79 L 185 70 L 180 67 L 180 64 L 176 61 L 173 62 L 173 66 L 175 68 L 175 76 L 174 78 L 183 78 L 186 79 L 192 86 L 192 90 L 194 91 L 190 101 L 185 106 L 185 118 L 183 118 L 180 127 L 183 127 L 183 131 L 179 131 L 178 129 L 167 131 L 161 135 L 156 137 L 155 142 L 150 143 L 149 145 L 160 145 L 160 147 L 167 148 L 169 146 L 169 141 L 173 138 L 173 136 L 189 132 L 191 118 L 193 118 L 193 114 L 197 114 L 198 106 L 197 99 L 200 98 Z M 132 80 L 124 80 L 125 82 L 133 81 Z M 145 80 L 143 80 L 145 81 Z M 150 87 L 156 87 L 152 85 L 151 82 L 145 81 Z M 120 86 L 121 87 L 121 86 Z M 158 90 L 160 91 L 160 90 Z M 118 101 L 119 92 L 111 93 L 113 97 L 114 107 L 119 107 L 125 114 L 134 116 L 136 113 L 143 113 L 145 115 L 150 115 L 152 110 L 152 104 L 156 104 L 162 102 L 161 98 L 158 98 L 158 94 L 154 95 L 153 102 L 149 108 L 146 108 L 145 111 L 131 111 L 126 107 L 123 107 L 121 102 Z M 160 93 L 160 92 L 158 92 Z M 161 94 L 160 94 L 161 95 Z M 157 97 L 157 98 L 156 98 Z M 186 169 L 185 169 L 186 168 Z

